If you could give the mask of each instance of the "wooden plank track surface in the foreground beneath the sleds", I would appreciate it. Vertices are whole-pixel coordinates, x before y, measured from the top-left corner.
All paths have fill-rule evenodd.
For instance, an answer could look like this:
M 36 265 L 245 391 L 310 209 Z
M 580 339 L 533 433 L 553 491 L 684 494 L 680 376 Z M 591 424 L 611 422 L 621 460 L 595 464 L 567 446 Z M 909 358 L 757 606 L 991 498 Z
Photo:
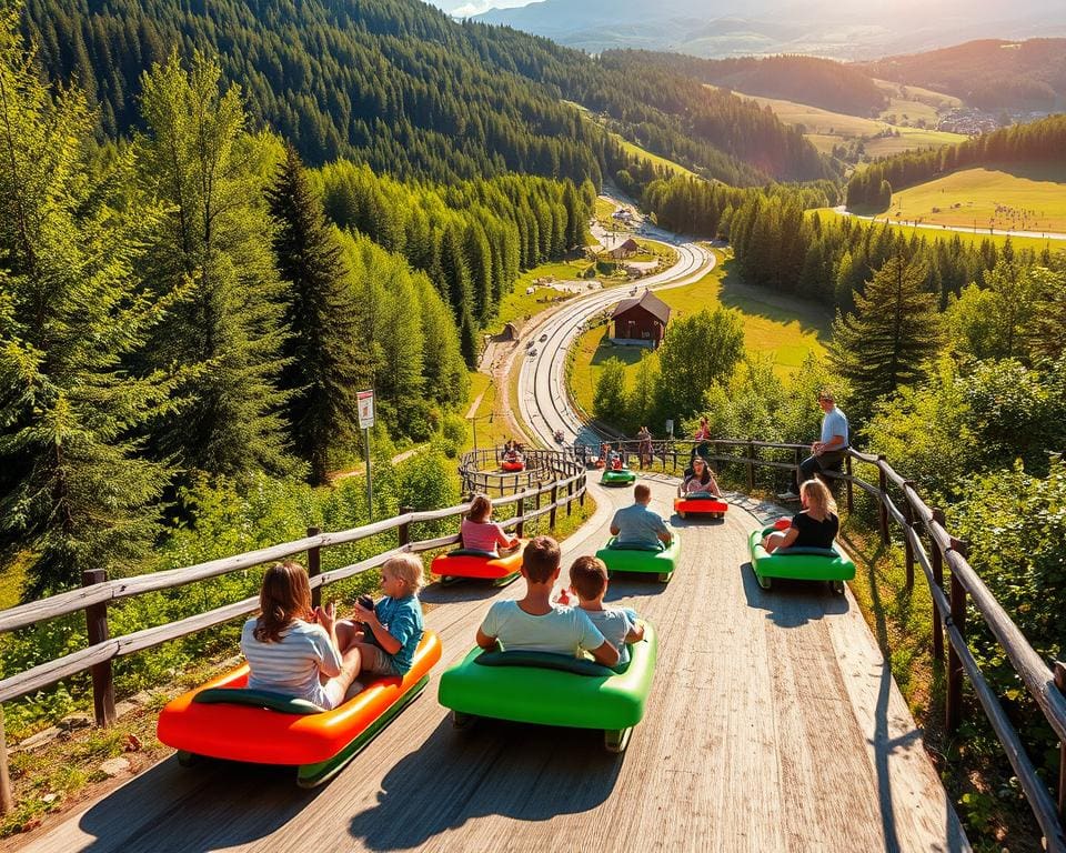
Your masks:
M 672 488 L 654 483 L 660 511 Z M 606 538 L 594 524 L 564 565 Z M 756 525 L 685 523 L 663 585 L 620 579 L 613 603 L 660 634 L 655 690 L 624 757 L 595 732 L 481 721 L 454 732 L 425 694 L 315 792 L 288 769 L 173 760 L 28 849 L 72 851 L 955 851 L 968 850 L 914 722 L 854 601 L 823 584 L 761 590 Z M 444 665 L 462 658 L 503 590 L 430 588 Z

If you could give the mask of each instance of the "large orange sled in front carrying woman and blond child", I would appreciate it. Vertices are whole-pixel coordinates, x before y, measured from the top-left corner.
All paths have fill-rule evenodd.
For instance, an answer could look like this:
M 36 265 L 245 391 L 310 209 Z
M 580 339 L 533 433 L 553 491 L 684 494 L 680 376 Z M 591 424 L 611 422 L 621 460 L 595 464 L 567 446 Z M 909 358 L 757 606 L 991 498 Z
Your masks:
M 339 773 L 422 692 L 440 660 L 441 641 L 426 631 L 403 679 L 379 678 L 332 711 L 303 699 L 245 690 L 244 664 L 168 703 L 159 715 L 157 734 L 179 751 L 183 765 L 202 755 L 295 764 L 296 784 L 314 787 Z

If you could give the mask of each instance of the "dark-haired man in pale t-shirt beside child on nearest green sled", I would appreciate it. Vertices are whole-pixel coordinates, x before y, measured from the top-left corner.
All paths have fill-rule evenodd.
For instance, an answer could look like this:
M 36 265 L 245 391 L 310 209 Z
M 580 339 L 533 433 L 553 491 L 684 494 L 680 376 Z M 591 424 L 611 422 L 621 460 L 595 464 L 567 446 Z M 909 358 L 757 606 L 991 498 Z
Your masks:
M 614 666 L 619 650 L 604 639 L 584 611 L 552 604 L 559 570 L 559 543 L 551 536 L 531 540 L 522 553 L 525 598 L 497 601 L 489 608 L 477 629 L 477 645 L 490 651 L 502 646 L 575 658 L 585 651 L 597 663 Z

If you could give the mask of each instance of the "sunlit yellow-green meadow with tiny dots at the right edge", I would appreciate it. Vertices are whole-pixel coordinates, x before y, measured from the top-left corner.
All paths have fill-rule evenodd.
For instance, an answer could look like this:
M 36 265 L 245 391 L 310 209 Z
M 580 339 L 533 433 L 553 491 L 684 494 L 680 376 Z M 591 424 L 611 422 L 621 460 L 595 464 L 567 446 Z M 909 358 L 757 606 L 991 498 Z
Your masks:
M 894 193 L 893 219 L 1066 233 L 1066 168 L 965 169 Z

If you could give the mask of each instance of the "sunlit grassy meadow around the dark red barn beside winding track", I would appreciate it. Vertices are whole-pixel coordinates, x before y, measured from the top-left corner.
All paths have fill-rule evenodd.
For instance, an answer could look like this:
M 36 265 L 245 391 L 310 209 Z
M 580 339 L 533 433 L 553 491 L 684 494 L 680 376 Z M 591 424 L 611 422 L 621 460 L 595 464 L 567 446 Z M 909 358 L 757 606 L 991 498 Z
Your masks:
M 744 315 L 745 349 L 753 354 L 768 355 L 782 378 L 798 368 L 808 352 L 821 355 L 825 351 L 823 342 L 828 338 L 831 322 L 826 309 L 743 284 L 730 267 L 728 261 L 720 263 L 694 284 L 660 291 L 657 295 L 673 309 L 671 321 L 720 304 L 737 309 Z M 574 347 L 570 390 L 576 402 L 589 411 L 595 383 L 607 359 L 625 362 L 627 380 L 632 382 L 636 365 L 648 352 L 638 347 L 611 344 L 604 340 L 607 331 L 607 325 L 596 327 L 582 334 Z M 657 355 L 653 353 L 651 358 L 657 359 Z

